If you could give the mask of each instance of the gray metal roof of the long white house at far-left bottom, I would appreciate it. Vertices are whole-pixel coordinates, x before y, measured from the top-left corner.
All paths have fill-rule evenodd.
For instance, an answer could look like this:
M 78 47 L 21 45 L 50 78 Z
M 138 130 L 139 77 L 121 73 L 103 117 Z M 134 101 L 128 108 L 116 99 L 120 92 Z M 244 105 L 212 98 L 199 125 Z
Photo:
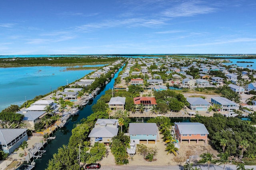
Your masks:
M 26 132 L 27 129 L 0 129 L 0 144 L 6 145 L 13 139 Z

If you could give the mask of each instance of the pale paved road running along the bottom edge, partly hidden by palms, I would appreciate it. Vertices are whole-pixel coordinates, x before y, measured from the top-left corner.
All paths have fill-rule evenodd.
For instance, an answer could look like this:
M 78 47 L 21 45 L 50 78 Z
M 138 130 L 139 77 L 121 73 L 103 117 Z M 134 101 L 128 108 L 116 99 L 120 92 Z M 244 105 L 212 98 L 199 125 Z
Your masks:
M 149 163 L 150 164 L 150 163 Z M 208 165 L 197 166 L 201 170 L 208 170 Z M 245 166 L 245 168 L 254 168 L 256 166 Z M 102 166 L 100 170 L 183 170 L 181 166 L 129 166 L 129 165 L 120 165 L 120 166 Z M 223 166 L 210 166 L 210 170 L 223 170 Z M 236 170 L 236 165 L 226 165 L 224 170 Z

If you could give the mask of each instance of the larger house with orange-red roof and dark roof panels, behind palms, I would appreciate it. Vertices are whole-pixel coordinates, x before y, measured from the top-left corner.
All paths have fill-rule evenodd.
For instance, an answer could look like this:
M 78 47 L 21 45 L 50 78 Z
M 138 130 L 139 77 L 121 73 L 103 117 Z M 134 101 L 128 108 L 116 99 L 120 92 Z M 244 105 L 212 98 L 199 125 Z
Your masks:
M 137 111 L 140 111 L 140 104 L 143 105 L 143 111 L 150 111 L 153 106 L 156 106 L 156 99 L 150 97 L 137 97 L 133 98 L 134 105 L 137 108 Z

